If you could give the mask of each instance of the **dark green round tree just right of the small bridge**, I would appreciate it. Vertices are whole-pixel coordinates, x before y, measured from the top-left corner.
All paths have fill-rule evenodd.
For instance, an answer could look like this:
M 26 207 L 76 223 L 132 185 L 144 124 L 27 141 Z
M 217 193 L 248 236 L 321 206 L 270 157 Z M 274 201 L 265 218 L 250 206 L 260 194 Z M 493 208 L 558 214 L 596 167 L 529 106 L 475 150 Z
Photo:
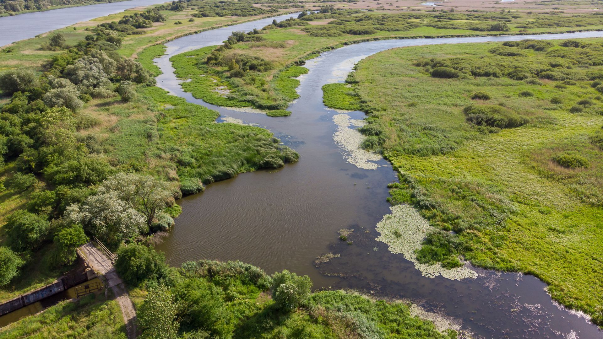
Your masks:
M 166 277 L 167 265 L 162 253 L 144 245 L 130 244 L 119 247 L 115 270 L 125 282 L 137 286 L 145 280 Z

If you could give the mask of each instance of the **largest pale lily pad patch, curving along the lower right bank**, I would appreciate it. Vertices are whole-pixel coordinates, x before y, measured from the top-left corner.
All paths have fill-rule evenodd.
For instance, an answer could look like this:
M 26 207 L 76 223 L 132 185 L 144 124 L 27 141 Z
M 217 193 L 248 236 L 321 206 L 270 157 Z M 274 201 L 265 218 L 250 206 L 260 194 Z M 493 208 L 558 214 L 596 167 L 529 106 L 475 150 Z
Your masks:
M 406 260 L 413 262 L 415 268 L 425 277 L 434 278 L 441 275 L 447 279 L 461 280 L 478 276 L 475 271 L 467 267 L 449 269 L 442 267 L 439 262 L 434 265 L 420 264 L 414 252 L 421 248 L 421 242 L 429 232 L 434 230 L 434 227 L 430 226 L 429 222 L 411 206 L 397 205 L 390 209 L 391 214 L 384 215 L 376 228 L 381 234 L 376 240 L 388 244 L 390 252 L 402 254 Z

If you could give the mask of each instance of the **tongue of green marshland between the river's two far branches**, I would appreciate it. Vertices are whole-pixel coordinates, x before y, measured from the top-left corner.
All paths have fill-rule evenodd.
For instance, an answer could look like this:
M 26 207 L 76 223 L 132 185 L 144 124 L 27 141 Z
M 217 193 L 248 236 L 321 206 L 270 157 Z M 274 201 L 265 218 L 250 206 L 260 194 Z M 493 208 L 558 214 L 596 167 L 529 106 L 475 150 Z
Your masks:
M 579 27 L 576 27 L 579 24 Z M 172 57 L 183 88 L 194 97 L 230 107 L 286 109 L 297 98 L 294 70 L 303 60 L 347 43 L 418 37 L 564 33 L 601 30 L 603 16 L 519 13 L 366 13 L 354 10 L 311 14 L 253 34 L 239 34 L 217 49 Z M 201 75 L 201 77 L 200 77 Z M 204 77 L 206 75 L 206 77 Z

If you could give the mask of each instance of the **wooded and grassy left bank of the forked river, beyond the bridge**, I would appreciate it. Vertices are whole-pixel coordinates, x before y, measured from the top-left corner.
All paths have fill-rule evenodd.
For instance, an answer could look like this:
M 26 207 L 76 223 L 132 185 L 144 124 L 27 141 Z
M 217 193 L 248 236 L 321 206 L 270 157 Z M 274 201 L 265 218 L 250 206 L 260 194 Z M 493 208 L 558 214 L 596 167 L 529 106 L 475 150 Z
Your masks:
M 167 95 L 153 86 L 151 59 L 129 58 L 156 39 L 247 20 L 168 26 L 198 13 L 183 7 L 126 11 L 0 52 L 0 300 L 69 270 L 88 236 L 113 249 L 142 241 L 172 226 L 174 198 L 297 160 L 269 131 L 215 124 L 217 112 Z

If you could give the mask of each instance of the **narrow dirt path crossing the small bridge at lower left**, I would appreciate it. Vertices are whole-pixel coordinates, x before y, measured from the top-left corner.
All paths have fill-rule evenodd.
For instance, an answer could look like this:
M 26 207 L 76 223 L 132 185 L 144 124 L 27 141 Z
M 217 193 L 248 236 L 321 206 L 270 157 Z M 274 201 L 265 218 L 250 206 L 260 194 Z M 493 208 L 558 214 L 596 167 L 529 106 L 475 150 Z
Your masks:
M 115 294 L 115 300 L 119 303 L 121 314 L 124 317 L 125 329 L 129 339 L 136 338 L 136 311 L 124 282 L 119 279 L 113 267 L 113 262 L 107 256 L 97 249 L 92 242 L 80 247 L 81 253 L 86 257 L 93 270 L 100 273 L 105 280 L 108 288 L 111 288 Z

